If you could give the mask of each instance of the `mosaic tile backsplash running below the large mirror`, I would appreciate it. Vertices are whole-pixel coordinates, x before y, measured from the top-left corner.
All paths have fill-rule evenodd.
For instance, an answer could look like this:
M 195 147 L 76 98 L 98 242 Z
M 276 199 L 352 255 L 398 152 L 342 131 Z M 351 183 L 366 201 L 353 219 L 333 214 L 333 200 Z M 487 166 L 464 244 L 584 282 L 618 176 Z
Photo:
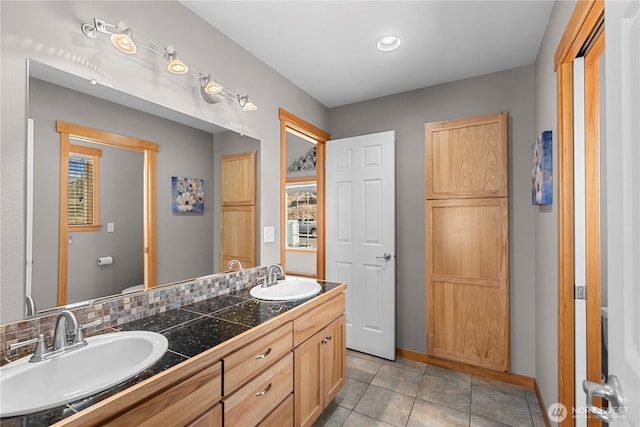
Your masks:
M 246 268 L 230 273 L 219 273 L 143 292 L 101 298 L 86 305 L 71 308 L 80 324 L 96 322 L 85 333 L 92 335 L 112 327 L 142 319 L 167 310 L 193 304 L 255 285 L 257 278 L 266 274 L 266 267 Z M 44 334 L 50 343 L 59 310 L 50 310 L 41 316 L 0 325 L 0 365 L 33 352 L 35 344 L 9 351 L 9 346 Z

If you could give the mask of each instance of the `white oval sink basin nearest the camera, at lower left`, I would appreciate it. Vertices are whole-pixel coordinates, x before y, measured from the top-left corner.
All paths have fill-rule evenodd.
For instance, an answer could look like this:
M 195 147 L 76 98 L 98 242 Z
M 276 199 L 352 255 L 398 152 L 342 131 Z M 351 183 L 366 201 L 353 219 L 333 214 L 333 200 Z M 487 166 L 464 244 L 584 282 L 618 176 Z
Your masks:
M 42 362 L 23 357 L 0 368 L 0 417 L 24 415 L 74 402 L 144 371 L 167 351 L 155 332 L 115 332 Z

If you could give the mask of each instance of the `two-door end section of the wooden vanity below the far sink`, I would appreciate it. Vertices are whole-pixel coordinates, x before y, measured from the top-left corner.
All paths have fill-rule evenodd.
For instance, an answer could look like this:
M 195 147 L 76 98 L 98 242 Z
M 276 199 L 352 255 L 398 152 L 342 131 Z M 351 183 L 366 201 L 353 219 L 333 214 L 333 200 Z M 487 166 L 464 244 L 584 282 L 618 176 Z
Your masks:
M 294 320 L 296 426 L 310 426 L 338 394 L 346 377 L 344 294 Z M 310 327 L 313 325 L 313 327 Z

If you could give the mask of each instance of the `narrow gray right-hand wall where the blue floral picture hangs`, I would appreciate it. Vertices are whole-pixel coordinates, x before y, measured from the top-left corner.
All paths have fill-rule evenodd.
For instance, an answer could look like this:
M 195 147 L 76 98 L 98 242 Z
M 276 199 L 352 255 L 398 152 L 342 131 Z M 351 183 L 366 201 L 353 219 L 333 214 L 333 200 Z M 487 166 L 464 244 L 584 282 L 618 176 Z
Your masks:
M 558 174 L 556 73 L 553 56 L 575 7 L 556 2 L 536 59 L 536 132 L 553 131 L 553 175 Z M 557 180 L 554 202 L 534 208 L 535 218 L 535 360 L 536 380 L 544 403 L 558 400 L 558 210 Z

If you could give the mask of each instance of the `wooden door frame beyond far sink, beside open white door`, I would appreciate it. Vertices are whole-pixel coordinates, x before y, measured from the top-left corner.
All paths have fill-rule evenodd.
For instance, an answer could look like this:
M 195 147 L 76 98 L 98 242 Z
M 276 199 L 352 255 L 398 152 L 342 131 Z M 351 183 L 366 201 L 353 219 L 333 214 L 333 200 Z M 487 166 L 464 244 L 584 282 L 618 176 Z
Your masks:
M 324 279 L 325 267 L 325 233 L 324 233 L 324 162 L 325 144 L 331 138 L 327 132 L 312 125 L 285 110 L 278 108 L 280 119 L 280 264 L 286 271 L 287 261 L 287 132 L 297 134 L 304 139 L 310 139 L 316 143 L 316 184 L 317 184 L 317 244 L 316 244 L 316 278 Z

